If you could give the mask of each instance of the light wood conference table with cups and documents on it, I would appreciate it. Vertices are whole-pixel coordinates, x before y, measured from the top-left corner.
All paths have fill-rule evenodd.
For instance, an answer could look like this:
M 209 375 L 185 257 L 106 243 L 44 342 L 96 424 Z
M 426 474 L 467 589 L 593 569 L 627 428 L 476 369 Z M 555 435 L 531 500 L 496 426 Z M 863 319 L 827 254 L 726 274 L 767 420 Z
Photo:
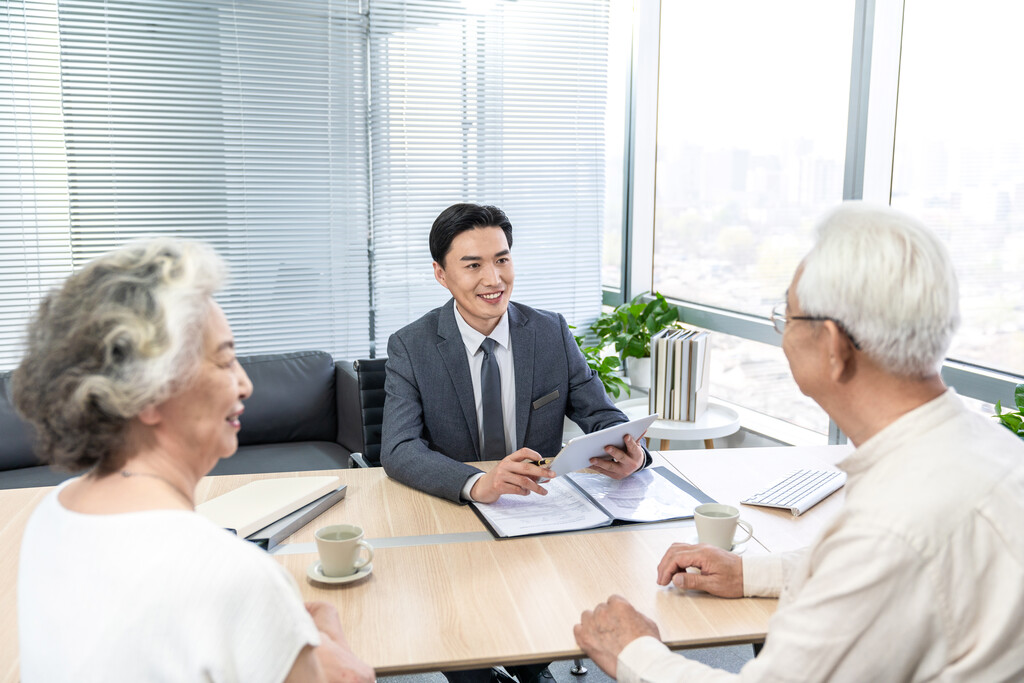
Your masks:
M 839 449 L 839 451 L 837 451 Z M 667 452 L 669 465 L 723 503 L 735 504 L 776 471 L 826 466 L 843 446 Z M 487 465 L 487 464 L 483 464 Z M 305 600 L 334 604 L 352 649 L 379 675 L 550 661 L 580 656 L 572 626 L 613 593 L 657 623 L 673 648 L 763 640 L 775 600 L 723 600 L 655 584 L 672 543 L 695 543 L 692 520 L 496 541 L 468 506 L 388 479 L 383 470 L 234 475 L 200 482 L 198 502 L 248 481 L 336 474 L 346 498 L 274 549 Z M 17 548 L 32 510 L 49 488 L 0 490 L 0 681 L 16 681 Z M 813 538 L 842 489 L 799 518 L 743 507 L 754 523 L 746 553 L 788 549 Z M 358 524 L 376 549 L 373 572 L 341 586 L 312 584 L 315 528 Z

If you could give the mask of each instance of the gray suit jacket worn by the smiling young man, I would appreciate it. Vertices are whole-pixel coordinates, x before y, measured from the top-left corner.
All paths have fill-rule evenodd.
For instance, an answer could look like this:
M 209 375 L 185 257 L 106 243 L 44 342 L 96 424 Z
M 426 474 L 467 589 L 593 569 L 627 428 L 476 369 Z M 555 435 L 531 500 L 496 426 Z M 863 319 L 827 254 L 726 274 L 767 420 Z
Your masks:
M 508 311 L 517 450 L 556 455 L 564 416 L 585 433 L 627 421 L 561 315 L 514 302 Z M 480 471 L 464 464 L 480 460 L 480 444 L 455 315 L 449 300 L 388 340 L 381 464 L 398 481 L 459 502 L 466 480 Z

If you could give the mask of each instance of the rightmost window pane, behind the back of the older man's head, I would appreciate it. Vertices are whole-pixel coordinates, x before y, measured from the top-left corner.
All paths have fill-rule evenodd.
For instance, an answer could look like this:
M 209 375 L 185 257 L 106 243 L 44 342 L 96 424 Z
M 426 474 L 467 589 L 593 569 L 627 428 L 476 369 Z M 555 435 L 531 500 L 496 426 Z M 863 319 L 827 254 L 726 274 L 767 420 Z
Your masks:
M 907 0 L 892 204 L 936 229 L 961 285 L 950 357 L 1024 374 L 1024 5 Z

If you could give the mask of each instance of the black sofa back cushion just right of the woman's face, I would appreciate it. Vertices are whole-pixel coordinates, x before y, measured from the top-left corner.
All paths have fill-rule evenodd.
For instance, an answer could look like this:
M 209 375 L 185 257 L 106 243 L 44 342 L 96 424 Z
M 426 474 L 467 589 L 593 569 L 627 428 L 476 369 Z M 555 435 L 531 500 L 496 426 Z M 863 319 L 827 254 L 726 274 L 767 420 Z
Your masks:
M 253 382 L 253 395 L 245 401 L 242 416 L 240 445 L 335 441 L 338 414 L 330 353 L 297 351 L 239 356 L 239 360 Z

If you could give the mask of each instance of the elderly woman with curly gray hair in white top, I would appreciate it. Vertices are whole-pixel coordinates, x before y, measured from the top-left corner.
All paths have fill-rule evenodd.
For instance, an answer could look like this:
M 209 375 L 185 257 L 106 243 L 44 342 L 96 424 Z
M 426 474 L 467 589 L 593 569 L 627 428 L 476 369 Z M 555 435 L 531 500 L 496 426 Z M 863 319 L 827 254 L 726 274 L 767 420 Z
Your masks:
M 13 378 L 52 466 L 86 470 L 25 530 L 22 679 L 372 681 L 337 613 L 194 512 L 238 447 L 252 383 L 201 244 L 136 243 L 43 301 Z

